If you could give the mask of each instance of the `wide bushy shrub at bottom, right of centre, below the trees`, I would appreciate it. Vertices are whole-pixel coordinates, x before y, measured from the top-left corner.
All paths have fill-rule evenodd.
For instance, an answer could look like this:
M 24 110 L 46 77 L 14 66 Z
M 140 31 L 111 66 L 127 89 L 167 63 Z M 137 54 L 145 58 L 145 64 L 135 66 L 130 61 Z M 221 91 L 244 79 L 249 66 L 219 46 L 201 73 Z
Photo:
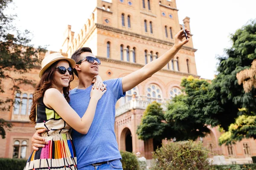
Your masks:
M 167 142 L 153 153 L 152 170 L 210 170 L 206 148 L 201 142 Z

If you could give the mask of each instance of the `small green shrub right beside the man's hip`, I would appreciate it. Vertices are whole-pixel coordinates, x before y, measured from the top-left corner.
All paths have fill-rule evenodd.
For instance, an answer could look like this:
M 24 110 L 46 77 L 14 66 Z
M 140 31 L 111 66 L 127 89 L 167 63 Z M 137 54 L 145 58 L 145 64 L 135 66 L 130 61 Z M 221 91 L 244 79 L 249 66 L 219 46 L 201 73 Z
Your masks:
M 122 156 L 122 167 L 124 170 L 139 170 L 137 157 L 130 152 L 120 151 Z

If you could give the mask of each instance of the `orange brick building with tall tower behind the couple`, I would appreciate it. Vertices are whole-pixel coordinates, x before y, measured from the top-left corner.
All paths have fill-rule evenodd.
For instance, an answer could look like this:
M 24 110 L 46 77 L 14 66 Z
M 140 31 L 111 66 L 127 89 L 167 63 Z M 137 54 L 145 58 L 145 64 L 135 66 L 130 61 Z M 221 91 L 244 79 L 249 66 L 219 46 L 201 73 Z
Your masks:
M 157 59 L 172 48 L 175 34 L 182 29 L 175 0 L 95 0 L 93 3 L 93 12 L 76 36 L 71 26 L 67 26 L 59 52 L 71 57 L 78 48 L 90 47 L 102 61 L 99 75 L 103 80 L 124 77 Z M 183 19 L 183 24 L 190 30 L 189 22 L 189 17 Z M 139 140 L 136 130 L 150 102 L 160 102 L 165 110 L 165 103 L 181 94 L 182 77 L 192 75 L 200 78 L 196 71 L 197 50 L 193 47 L 192 37 L 163 69 L 126 92 L 126 96 L 117 102 L 115 133 L 119 150 L 140 152 L 146 159 L 152 159 L 155 148 L 161 142 L 166 142 Z M 52 51 L 46 55 L 50 53 Z M 38 82 L 38 73 L 39 69 L 33 69 L 23 76 Z M 20 76 L 14 72 L 10 74 Z M 14 125 L 11 131 L 7 131 L 6 139 L 0 139 L 0 157 L 27 159 L 32 152 L 31 137 L 35 133 L 34 125 L 29 123 L 28 118 L 34 88 L 19 85 L 22 93 L 14 94 L 8 88 L 12 82 L 6 81 L 4 84 L 6 93 L 1 99 L 9 97 L 22 104 L 15 105 L 16 109 L 11 108 L 10 111 L 0 111 L 1 118 Z M 77 79 L 72 82 L 72 88 L 76 85 Z M 209 129 L 211 133 L 198 140 L 212 153 L 224 155 L 231 163 L 249 163 L 250 156 L 256 156 L 253 139 L 218 146 L 220 133 L 215 127 Z M 214 154 L 209 154 L 209 157 L 212 158 Z

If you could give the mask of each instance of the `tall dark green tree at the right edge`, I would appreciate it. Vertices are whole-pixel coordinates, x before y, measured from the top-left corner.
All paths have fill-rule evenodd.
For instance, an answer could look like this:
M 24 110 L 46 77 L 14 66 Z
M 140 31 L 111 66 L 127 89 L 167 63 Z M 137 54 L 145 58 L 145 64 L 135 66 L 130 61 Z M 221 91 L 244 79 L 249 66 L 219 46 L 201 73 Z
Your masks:
M 226 49 L 225 56 L 218 57 L 218 75 L 212 80 L 210 91 L 214 94 L 218 106 L 221 108 L 213 118 L 219 121 L 219 125 L 228 130 L 230 124 L 241 115 L 248 116 L 256 113 L 256 90 L 244 92 L 243 86 L 238 84 L 236 74 L 250 68 L 256 59 L 256 21 L 250 21 L 247 25 L 238 29 L 231 35 L 233 45 Z M 211 113 L 210 108 L 216 107 L 215 103 L 208 103 L 206 113 Z M 239 111 L 246 108 L 246 112 Z

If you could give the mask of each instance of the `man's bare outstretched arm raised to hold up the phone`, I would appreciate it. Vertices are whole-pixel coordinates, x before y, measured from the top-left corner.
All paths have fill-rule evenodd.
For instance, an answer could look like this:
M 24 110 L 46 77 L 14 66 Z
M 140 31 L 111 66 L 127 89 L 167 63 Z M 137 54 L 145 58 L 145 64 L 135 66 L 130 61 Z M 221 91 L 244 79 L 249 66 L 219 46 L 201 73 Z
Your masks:
M 190 32 L 186 29 L 186 34 L 189 35 Z M 154 73 L 162 69 L 180 50 L 180 48 L 189 42 L 189 40 L 183 40 L 185 37 L 183 30 L 180 30 L 178 34 L 175 35 L 175 43 L 171 49 L 166 51 L 158 59 L 149 62 L 140 70 L 134 71 L 133 73 L 122 78 L 122 90 L 123 92 L 129 91 L 134 88 L 136 85 L 143 82 L 145 79 L 151 77 Z M 190 38 L 189 36 L 187 36 Z

